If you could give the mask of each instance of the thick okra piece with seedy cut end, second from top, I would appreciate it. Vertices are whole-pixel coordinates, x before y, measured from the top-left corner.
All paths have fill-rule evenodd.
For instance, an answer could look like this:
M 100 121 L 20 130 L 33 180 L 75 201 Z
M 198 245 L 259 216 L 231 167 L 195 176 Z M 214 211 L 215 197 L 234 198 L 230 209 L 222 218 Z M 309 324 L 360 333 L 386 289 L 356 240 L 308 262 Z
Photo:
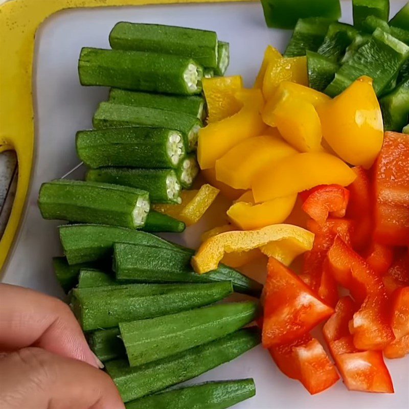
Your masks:
M 191 58 L 141 51 L 83 48 L 82 85 L 102 85 L 165 94 L 200 94 L 203 70 Z

